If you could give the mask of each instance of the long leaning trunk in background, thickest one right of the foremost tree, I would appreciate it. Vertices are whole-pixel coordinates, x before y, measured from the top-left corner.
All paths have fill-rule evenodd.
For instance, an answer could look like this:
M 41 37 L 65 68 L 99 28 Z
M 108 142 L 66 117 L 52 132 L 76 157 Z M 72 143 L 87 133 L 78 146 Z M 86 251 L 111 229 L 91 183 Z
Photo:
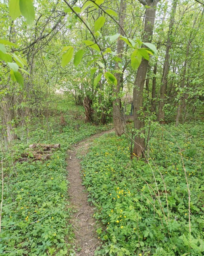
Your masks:
M 167 43 L 166 43 L 166 54 L 165 54 L 165 60 L 164 60 L 163 75 L 161 79 L 160 101 L 159 101 L 159 108 L 158 108 L 158 121 L 160 123 L 165 123 L 164 104 L 165 104 L 165 95 L 166 95 L 166 87 L 167 87 L 167 76 L 169 71 L 169 51 L 172 46 L 171 36 L 172 36 L 172 27 L 174 24 L 174 16 L 176 13 L 176 4 L 177 4 L 177 0 L 174 0 L 172 10 L 171 10 L 171 17 L 169 21 L 168 36 L 167 36 Z

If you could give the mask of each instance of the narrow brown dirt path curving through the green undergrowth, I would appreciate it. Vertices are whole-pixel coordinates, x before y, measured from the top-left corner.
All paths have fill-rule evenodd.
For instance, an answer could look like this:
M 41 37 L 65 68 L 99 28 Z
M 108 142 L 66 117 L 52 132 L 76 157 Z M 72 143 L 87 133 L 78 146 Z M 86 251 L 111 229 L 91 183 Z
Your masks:
M 82 177 L 80 174 L 80 159 L 76 157 L 78 152 L 80 155 L 84 155 L 88 151 L 89 144 L 97 137 L 105 133 L 114 131 L 104 131 L 99 134 L 92 135 L 86 140 L 81 141 L 73 150 L 68 151 L 67 158 L 67 171 L 70 195 L 71 207 L 76 210 L 76 214 L 72 216 L 71 224 L 74 229 L 76 236 L 76 247 L 80 247 L 81 250 L 76 252 L 77 256 L 92 256 L 96 247 L 99 245 L 95 232 L 95 219 L 92 217 L 94 210 L 93 207 L 88 203 L 88 193 L 84 191 L 85 187 L 81 184 Z M 76 248 L 77 249 L 77 248 Z

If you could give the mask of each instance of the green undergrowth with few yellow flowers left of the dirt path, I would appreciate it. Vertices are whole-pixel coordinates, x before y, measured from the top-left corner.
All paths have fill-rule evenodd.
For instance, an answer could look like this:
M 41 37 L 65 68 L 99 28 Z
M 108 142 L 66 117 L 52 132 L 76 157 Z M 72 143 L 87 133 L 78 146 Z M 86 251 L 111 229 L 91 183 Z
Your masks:
M 26 129 L 17 128 L 22 139 L 10 145 L 3 158 L 4 191 L 0 233 L 0 255 L 74 255 L 71 216 L 67 195 L 66 150 L 110 125 L 84 123 L 81 107 L 61 100 L 65 126 L 60 113 L 43 123 L 36 117 Z M 33 143 L 61 144 L 47 161 L 15 162 Z M 31 152 L 32 156 L 32 152 Z M 2 184 L 1 184 L 2 185 Z

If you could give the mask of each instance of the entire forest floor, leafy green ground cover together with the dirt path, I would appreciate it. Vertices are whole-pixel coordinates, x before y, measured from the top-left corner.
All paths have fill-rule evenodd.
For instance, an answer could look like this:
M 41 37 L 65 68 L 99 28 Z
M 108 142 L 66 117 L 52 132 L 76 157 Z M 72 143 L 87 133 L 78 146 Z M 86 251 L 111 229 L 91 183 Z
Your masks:
M 155 124 L 144 162 L 131 160 L 127 136 L 85 123 L 83 111 L 59 98 L 48 120 L 17 128 L 3 155 L 0 255 L 203 255 L 203 121 Z M 18 162 L 34 143 L 61 148 Z

